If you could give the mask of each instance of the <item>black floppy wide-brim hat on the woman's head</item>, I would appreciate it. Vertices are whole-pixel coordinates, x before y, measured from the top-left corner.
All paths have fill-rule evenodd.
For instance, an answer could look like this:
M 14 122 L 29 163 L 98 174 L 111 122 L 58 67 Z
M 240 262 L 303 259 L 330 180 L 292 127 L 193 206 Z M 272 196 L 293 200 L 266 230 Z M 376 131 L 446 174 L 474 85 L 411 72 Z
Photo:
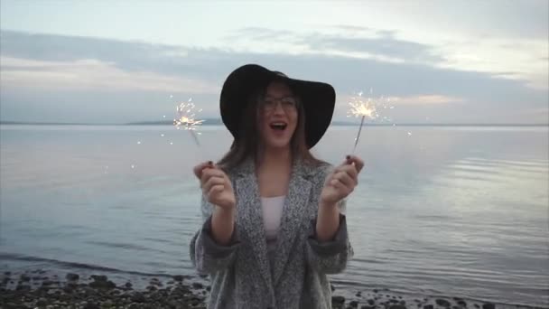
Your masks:
M 336 103 L 336 92 L 327 83 L 294 80 L 257 64 L 244 65 L 228 75 L 221 89 L 219 108 L 223 123 L 237 139 L 250 96 L 258 89 L 266 89 L 274 80 L 287 83 L 293 94 L 300 98 L 305 111 L 305 140 L 312 148 L 330 126 Z

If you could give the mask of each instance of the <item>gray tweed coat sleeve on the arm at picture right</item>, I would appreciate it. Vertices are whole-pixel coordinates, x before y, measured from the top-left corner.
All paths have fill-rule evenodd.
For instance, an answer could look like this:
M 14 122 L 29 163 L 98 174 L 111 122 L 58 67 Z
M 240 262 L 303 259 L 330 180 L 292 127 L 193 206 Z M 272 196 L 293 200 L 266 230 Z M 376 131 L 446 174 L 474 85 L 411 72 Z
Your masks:
M 321 181 L 316 186 L 316 196 L 313 202 L 318 204 L 321 189 L 324 186 L 324 179 L 331 172 L 331 167 L 324 169 L 321 173 Z M 340 201 L 340 227 L 334 238 L 330 241 L 319 242 L 316 237 L 316 216 L 311 221 L 309 239 L 307 239 L 307 262 L 312 269 L 324 274 L 338 274 L 347 267 L 347 262 L 353 256 L 353 248 L 349 242 L 346 219 L 347 201 Z M 318 208 L 317 208 L 318 209 Z

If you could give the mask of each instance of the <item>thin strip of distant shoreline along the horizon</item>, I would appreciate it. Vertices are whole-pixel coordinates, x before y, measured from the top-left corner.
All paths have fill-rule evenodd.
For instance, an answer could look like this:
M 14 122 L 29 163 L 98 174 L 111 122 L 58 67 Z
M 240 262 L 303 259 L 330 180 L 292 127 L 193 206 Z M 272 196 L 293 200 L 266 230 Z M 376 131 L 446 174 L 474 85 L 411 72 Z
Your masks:
M 19 126 L 173 126 L 173 122 L 151 121 L 151 122 L 130 122 L 125 124 L 94 124 L 94 123 L 63 123 L 63 122 L 24 122 L 24 121 L 0 121 L 0 125 Z M 202 126 L 222 126 L 220 119 L 205 119 Z M 358 122 L 334 121 L 331 126 L 358 126 Z M 402 123 L 402 124 L 373 124 L 365 123 L 364 126 L 549 126 L 549 124 L 446 124 L 446 123 Z

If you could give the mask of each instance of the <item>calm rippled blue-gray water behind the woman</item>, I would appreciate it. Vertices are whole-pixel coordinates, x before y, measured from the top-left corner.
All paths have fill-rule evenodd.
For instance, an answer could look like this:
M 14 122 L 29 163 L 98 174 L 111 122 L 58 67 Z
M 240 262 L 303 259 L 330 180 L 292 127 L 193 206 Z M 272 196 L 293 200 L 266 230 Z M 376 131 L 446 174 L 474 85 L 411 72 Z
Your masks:
M 355 134 L 332 127 L 314 152 L 339 164 Z M 361 138 L 355 258 L 338 286 L 549 304 L 547 127 L 367 127 Z M 230 139 L 210 126 L 200 143 L 171 126 L 1 126 L 0 267 L 193 274 L 191 166 Z

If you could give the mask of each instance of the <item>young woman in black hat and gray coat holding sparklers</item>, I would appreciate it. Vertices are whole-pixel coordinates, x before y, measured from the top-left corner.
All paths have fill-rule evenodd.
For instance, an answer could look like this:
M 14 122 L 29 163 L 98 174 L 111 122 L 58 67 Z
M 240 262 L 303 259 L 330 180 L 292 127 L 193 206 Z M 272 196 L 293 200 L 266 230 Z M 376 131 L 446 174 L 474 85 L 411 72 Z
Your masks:
M 352 256 L 344 199 L 363 163 L 335 169 L 312 156 L 330 126 L 335 91 L 248 64 L 223 85 L 221 117 L 234 136 L 217 164 L 195 166 L 202 228 L 191 260 L 209 274 L 209 308 L 330 308 L 327 274 Z

